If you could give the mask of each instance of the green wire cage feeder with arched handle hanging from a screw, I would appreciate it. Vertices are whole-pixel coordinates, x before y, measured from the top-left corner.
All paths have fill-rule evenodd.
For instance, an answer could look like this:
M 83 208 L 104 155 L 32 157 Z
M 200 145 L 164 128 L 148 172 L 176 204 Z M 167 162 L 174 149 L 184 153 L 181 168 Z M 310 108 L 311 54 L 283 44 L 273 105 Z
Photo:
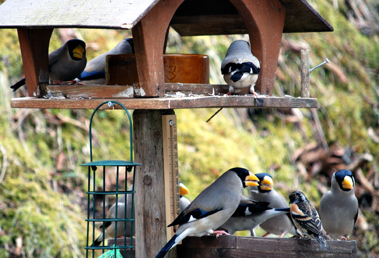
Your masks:
M 119 160 L 108 160 L 108 161 L 92 161 L 92 129 L 91 129 L 91 126 L 92 126 L 92 119 L 93 119 L 93 116 L 94 114 L 99 110 L 99 108 L 105 104 L 108 104 L 109 107 L 112 107 L 114 106 L 115 104 L 117 105 L 120 105 L 126 112 L 126 114 L 128 115 L 128 118 L 129 118 L 129 125 L 130 125 L 130 162 L 128 161 L 119 161 Z M 103 102 L 102 104 L 100 104 L 92 113 L 92 116 L 91 116 L 91 119 L 89 121 L 89 148 L 90 148 L 90 160 L 91 162 L 89 163 L 85 163 L 85 164 L 82 164 L 80 166 L 86 166 L 88 167 L 88 191 L 86 192 L 87 193 L 87 196 L 88 196 L 88 204 L 87 204 L 87 219 L 85 220 L 87 222 L 87 244 L 86 244 L 86 257 L 88 258 L 88 253 L 89 251 L 91 250 L 92 251 L 92 258 L 95 258 L 95 250 L 103 250 L 103 255 L 108 255 L 110 252 L 112 252 L 112 256 L 113 257 L 119 257 L 120 255 L 120 252 L 119 250 L 124 250 L 124 254 L 126 255 L 126 251 L 127 249 L 129 250 L 130 252 L 130 258 L 133 257 L 133 252 L 132 252 L 132 249 L 133 249 L 133 228 L 134 228 L 134 211 L 133 211 L 133 208 L 134 208 L 134 179 L 135 179 L 135 167 L 136 166 L 141 166 L 142 164 L 138 164 L 138 163 L 133 163 L 133 129 L 132 129 L 132 124 L 131 124 L 131 118 L 130 118 L 130 114 L 129 112 L 126 110 L 126 108 L 120 104 L 119 102 L 116 102 L 116 101 L 106 101 L 106 102 Z M 96 185 L 96 171 L 98 169 L 98 166 L 100 167 L 103 167 L 103 185 L 101 187 L 97 187 Z M 116 190 L 113 190 L 113 191 L 106 191 L 106 182 L 105 182 L 105 178 L 106 178 L 106 170 L 110 169 L 108 167 L 116 167 Z M 125 167 L 125 190 L 124 191 L 119 191 L 119 172 L 120 172 L 120 167 Z M 92 171 L 92 173 L 91 173 Z M 128 190 L 127 189 L 127 172 L 132 172 L 133 173 L 133 183 L 132 185 L 129 187 Z M 98 172 L 99 173 L 99 172 Z M 101 173 L 101 172 L 100 172 Z M 92 191 L 90 191 L 90 187 L 91 187 L 91 174 L 92 174 Z M 97 191 L 96 189 L 102 189 L 100 191 Z M 106 195 L 108 194 L 111 194 L 111 195 L 116 195 L 116 203 L 114 204 L 114 207 L 112 207 L 110 209 L 110 211 L 112 209 L 114 209 L 114 214 L 115 216 L 112 216 L 111 218 L 106 218 L 106 214 L 105 214 L 105 207 L 106 207 L 106 202 L 105 202 L 105 197 Z M 92 198 L 90 196 L 93 196 Z M 95 209 L 95 199 L 96 199 L 96 196 L 97 195 L 100 195 L 102 196 L 103 198 L 103 216 L 102 218 L 96 218 L 95 214 L 96 214 L 96 209 Z M 122 195 L 124 195 L 124 202 L 122 203 L 122 201 L 119 200 L 119 196 L 122 197 Z M 121 199 L 120 197 L 120 199 Z M 128 199 L 129 198 L 129 199 Z M 130 198 L 131 198 L 131 202 L 130 202 Z M 90 208 L 90 204 L 91 204 L 91 201 L 92 201 L 92 209 Z M 126 204 L 128 203 L 128 204 Z M 131 203 L 131 205 L 129 205 L 129 203 Z M 124 218 L 118 218 L 118 212 L 119 209 L 124 209 L 124 215 L 125 216 L 122 216 Z M 128 212 L 128 209 L 129 212 Z M 110 212 L 109 211 L 109 212 Z M 114 218 L 113 218 L 114 217 Z M 96 246 L 94 245 L 95 242 L 93 241 L 92 244 L 88 245 L 89 243 L 89 223 L 92 223 L 92 239 L 96 239 L 96 235 L 95 235 L 95 223 L 96 222 L 103 222 L 103 225 L 100 227 L 102 229 L 102 239 L 100 239 L 102 241 L 102 245 L 100 246 Z M 124 235 L 124 236 L 130 236 L 130 244 L 127 244 L 127 241 L 126 241 L 126 237 L 124 238 L 124 241 L 123 241 L 123 245 L 105 245 L 104 241 L 106 239 L 105 235 L 106 235 L 106 230 L 105 228 L 107 227 L 112 227 L 110 226 L 112 223 L 114 223 L 114 226 L 115 226 L 115 234 L 114 236 L 111 235 L 110 237 L 114 237 L 115 238 L 115 243 L 117 245 L 117 236 L 118 235 Z M 117 232 L 117 225 L 121 223 L 121 225 L 124 225 L 122 227 L 122 233 L 123 234 L 118 234 L 120 232 Z M 119 229 L 120 229 L 120 226 L 119 226 Z M 120 241 L 118 242 L 120 243 Z M 108 250 L 106 253 L 105 250 Z M 107 256 L 108 257 L 108 256 Z

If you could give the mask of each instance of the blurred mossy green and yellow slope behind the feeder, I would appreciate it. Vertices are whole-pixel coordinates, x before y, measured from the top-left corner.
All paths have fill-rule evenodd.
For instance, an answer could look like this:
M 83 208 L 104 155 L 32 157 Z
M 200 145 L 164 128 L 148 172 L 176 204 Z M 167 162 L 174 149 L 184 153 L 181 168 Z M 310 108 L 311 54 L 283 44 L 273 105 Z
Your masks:
M 309 48 L 311 67 L 331 62 L 310 76 L 319 109 L 223 109 L 209 123 L 216 109 L 175 110 L 180 180 L 194 199 L 227 169 L 245 167 L 271 173 L 283 196 L 304 191 L 317 208 L 331 175 L 350 169 L 360 203 L 351 239 L 360 257 L 376 257 L 379 2 L 310 4 L 335 31 L 283 35 L 274 95 L 300 95 L 300 50 Z M 86 42 L 88 60 L 131 37 L 124 30 L 54 30 L 50 51 L 69 34 Z M 0 257 L 84 257 L 87 171 L 79 165 L 89 161 L 92 111 L 11 109 L 12 97 L 27 95 L 24 88 L 10 89 L 24 76 L 21 53 L 16 30 L 0 29 L 0 38 Z M 211 83 L 224 84 L 221 61 L 236 39 L 248 36 L 180 37 L 171 29 L 167 53 L 209 55 Z M 94 160 L 128 160 L 128 126 L 122 111 L 99 112 Z M 112 187 L 116 173 L 107 177 Z

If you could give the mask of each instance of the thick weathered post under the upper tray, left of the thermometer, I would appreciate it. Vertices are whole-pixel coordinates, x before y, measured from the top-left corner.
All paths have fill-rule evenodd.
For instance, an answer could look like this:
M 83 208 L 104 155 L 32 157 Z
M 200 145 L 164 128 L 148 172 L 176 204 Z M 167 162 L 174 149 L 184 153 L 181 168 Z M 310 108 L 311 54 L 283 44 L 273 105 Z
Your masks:
M 135 256 L 154 258 L 166 244 L 162 115 L 173 110 L 133 112 L 135 162 Z M 165 257 L 176 257 L 176 248 Z

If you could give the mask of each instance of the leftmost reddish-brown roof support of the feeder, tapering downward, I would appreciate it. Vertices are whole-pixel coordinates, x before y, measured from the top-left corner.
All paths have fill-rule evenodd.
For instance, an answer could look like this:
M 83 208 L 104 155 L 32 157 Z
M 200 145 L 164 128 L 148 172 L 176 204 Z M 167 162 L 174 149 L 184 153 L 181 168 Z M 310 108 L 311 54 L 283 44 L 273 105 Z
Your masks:
M 28 94 L 40 96 L 49 84 L 49 41 L 53 29 L 17 29 Z M 43 89 L 42 89 L 43 91 Z

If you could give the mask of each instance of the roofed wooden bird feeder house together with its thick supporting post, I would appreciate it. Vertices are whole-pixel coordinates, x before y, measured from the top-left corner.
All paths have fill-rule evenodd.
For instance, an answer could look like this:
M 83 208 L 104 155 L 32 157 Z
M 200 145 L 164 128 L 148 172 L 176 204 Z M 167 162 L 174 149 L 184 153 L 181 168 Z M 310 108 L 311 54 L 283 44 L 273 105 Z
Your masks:
M 226 93 L 227 85 L 165 83 L 163 54 L 169 26 L 181 36 L 249 34 L 252 53 L 261 65 L 255 90 L 268 97 L 209 96 L 213 89 L 216 95 Z M 167 241 L 169 221 L 166 219 L 169 219 L 164 192 L 167 183 L 163 171 L 167 169 L 164 156 L 171 156 L 165 153 L 167 138 L 164 135 L 167 130 L 173 132 L 172 126 L 176 126 L 176 120 L 171 124 L 173 110 L 317 108 L 317 99 L 304 97 L 307 95 L 272 96 L 281 37 L 282 33 L 289 32 L 334 30 L 306 0 L 7 0 L 0 6 L 0 28 L 17 28 L 29 94 L 28 97 L 11 99 L 11 107 L 95 109 L 104 101 L 114 100 L 134 110 L 135 162 L 145 164 L 136 169 L 135 176 L 136 257 L 155 257 Z M 138 83 L 49 85 L 48 48 L 54 28 L 131 29 Z M 43 98 L 49 91 L 83 98 Z M 166 92 L 175 91 L 205 96 L 165 97 Z M 165 125 L 166 120 L 171 127 Z M 185 243 L 183 241 L 181 249 L 186 248 Z M 233 257 L 246 256 L 241 250 L 236 253 L 240 254 L 233 254 Z M 166 257 L 176 255 L 174 248 Z M 319 252 L 318 257 L 322 255 Z M 178 252 L 178 257 L 184 256 Z M 214 254 L 214 257 L 221 256 Z

